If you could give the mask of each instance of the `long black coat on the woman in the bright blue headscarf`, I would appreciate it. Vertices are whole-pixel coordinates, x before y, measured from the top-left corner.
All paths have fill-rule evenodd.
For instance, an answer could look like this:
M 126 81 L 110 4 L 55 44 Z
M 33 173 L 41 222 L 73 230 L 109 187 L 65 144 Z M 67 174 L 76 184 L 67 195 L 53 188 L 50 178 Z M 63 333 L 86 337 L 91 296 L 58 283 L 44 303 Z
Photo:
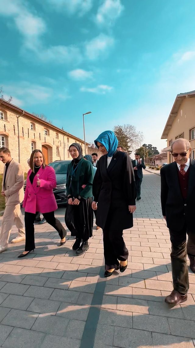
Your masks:
M 96 224 L 110 229 L 133 226 L 133 214 L 128 205 L 135 205 L 136 187 L 132 162 L 127 153 L 116 151 L 107 168 L 107 156 L 99 159 L 94 180 L 93 196 L 97 203 Z

